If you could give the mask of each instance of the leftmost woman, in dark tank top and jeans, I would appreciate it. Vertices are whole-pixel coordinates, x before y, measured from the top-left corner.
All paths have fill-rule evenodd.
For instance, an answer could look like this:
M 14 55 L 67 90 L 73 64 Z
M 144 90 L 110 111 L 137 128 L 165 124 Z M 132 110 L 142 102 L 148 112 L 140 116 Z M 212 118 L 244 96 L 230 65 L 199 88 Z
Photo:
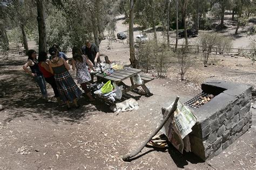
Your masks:
M 34 77 L 35 81 L 37 82 L 38 86 L 40 87 L 41 93 L 43 97 L 49 101 L 49 98 L 47 96 L 47 91 L 46 91 L 46 86 L 45 86 L 45 81 L 43 74 L 40 72 L 39 67 L 38 67 L 38 61 L 36 59 L 36 51 L 33 49 L 30 49 L 28 51 L 28 62 L 26 62 L 23 65 L 23 69 L 25 70 L 26 73 L 30 74 L 31 76 Z M 28 69 L 30 67 L 30 70 Z

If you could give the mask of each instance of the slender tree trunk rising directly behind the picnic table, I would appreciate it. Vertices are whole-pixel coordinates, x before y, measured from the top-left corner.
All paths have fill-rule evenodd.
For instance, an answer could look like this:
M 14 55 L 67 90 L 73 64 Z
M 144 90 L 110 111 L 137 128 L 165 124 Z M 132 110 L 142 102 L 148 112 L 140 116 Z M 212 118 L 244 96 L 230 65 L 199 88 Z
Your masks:
M 134 23 L 134 13 L 133 13 L 133 0 L 130 0 L 130 10 L 129 10 L 129 45 L 130 45 L 130 62 L 133 68 L 138 67 L 138 60 L 135 58 L 134 53 L 134 37 L 133 37 L 133 23 Z

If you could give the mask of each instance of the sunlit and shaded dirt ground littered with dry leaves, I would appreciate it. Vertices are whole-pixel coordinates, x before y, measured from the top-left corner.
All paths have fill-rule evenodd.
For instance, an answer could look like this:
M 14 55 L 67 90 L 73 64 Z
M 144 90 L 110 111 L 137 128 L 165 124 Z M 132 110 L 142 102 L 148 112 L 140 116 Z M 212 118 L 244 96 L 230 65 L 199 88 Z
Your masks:
M 119 24 L 122 20 L 118 21 Z M 121 26 L 126 30 L 126 26 Z M 121 30 L 122 31 L 122 30 Z M 135 33 L 134 33 L 135 34 Z M 244 38 L 244 36 L 243 36 Z M 113 42 L 100 52 L 119 64 L 129 64 L 129 46 Z M 34 42 L 30 42 L 34 48 Z M 69 54 L 70 56 L 70 54 Z M 71 57 L 71 56 L 70 56 Z M 12 51 L 8 60 L 0 58 L 0 98 L 4 110 L 0 117 L 1 169 L 255 169 L 255 120 L 252 127 L 211 160 L 203 162 L 192 153 L 180 154 L 169 146 L 167 150 L 144 148 L 131 162 L 122 155 L 134 150 L 159 125 L 161 107 L 180 96 L 185 102 L 198 94 L 200 83 L 208 77 L 251 84 L 256 87 L 256 67 L 238 56 L 213 56 L 208 67 L 200 60 L 188 71 L 186 81 L 180 81 L 175 62 L 171 63 L 165 79 L 156 77 L 153 70 L 147 75 L 155 79 L 147 83 L 154 94 L 150 97 L 129 93 L 139 103 L 137 111 L 116 116 L 107 105 L 79 98 L 79 109 L 66 111 L 56 103 L 45 103 L 32 77 L 22 65 L 27 57 Z M 213 65 L 214 63 L 214 65 Z M 71 71 L 75 78 L 75 72 Z M 53 91 L 48 86 L 48 93 Z M 253 100 L 253 102 L 255 102 Z

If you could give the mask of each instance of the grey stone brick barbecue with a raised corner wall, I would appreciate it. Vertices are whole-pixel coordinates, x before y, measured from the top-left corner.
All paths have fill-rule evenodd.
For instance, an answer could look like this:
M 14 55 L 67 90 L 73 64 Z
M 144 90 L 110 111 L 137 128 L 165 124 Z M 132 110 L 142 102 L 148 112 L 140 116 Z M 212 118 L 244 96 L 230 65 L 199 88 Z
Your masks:
M 191 151 L 205 161 L 225 150 L 252 125 L 252 87 L 207 80 L 201 84 L 201 89 L 214 97 L 199 108 L 190 108 L 198 122 L 189 137 Z

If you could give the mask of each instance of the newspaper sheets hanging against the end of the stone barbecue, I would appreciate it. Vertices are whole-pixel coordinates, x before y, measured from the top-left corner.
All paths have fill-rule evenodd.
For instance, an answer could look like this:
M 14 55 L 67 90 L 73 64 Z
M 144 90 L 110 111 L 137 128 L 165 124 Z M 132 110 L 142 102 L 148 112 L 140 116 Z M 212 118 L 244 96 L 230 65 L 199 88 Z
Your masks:
M 167 112 L 172 108 L 172 105 L 166 108 Z M 167 112 L 165 112 L 163 117 L 167 115 Z M 164 131 L 169 141 L 177 148 L 177 150 L 181 153 L 183 153 L 184 149 L 186 152 L 189 152 L 191 151 L 191 147 L 188 133 L 192 132 L 191 128 L 196 122 L 197 117 L 190 111 L 190 109 L 178 102 L 176 111 L 170 116 L 161 131 Z

